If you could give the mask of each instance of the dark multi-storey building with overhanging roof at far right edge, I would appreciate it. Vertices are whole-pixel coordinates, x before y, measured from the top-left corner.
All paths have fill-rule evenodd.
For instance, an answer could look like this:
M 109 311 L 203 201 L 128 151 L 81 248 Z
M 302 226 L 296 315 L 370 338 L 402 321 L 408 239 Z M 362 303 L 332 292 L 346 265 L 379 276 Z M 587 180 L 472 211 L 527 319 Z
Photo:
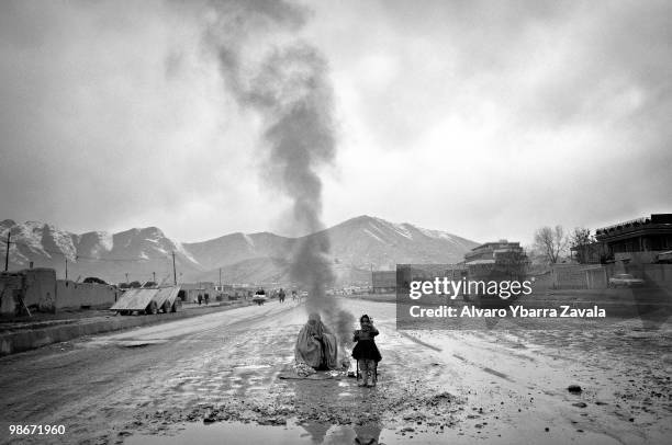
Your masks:
M 603 262 L 656 263 L 659 255 L 672 250 L 672 214 L 652 214 L 604 227 L 597 229 L 595 238 L 605 248 Z

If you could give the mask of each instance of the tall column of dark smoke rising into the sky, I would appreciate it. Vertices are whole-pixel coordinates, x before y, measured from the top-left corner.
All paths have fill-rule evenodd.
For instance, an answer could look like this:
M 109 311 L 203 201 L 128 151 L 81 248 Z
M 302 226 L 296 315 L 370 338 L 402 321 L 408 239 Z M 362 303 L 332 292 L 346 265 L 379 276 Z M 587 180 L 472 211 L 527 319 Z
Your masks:
M 224 2 L 216 3 L 214 10 L 220 15 L 208 38 L 216 50 L 226 87 L 238 104 L 261 115 L 271 176 L 292 199 L 296 228 L 312 233 L 301 238 L 292 252 L 291 278 L 309 293 L 306 310 L 321 312 L 343 346 L 351 340 L 355 320 L 325 294 L 334 283 L 334 273 L 329 240 L 322 232 L 322 181 L 317 174 L 336 151 L 327 64 L 315 47 L 291 39 L 276 42 L 260 61 L 246 60 L 250 48 L 259 49 L 246 41 L 261 38 L 260 34 L 273 27 L 294 31 L 303 24 L 305 13 L 294 5 Z

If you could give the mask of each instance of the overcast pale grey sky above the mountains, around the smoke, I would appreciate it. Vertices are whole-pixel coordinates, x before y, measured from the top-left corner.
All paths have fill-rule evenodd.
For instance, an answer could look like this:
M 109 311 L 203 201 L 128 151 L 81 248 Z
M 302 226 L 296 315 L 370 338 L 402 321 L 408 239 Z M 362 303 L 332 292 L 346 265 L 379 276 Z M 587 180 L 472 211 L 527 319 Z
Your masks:
M 213 9 L 1 2 L 0 218 L 77 232 L 158 226 L 181 241 L 295 235 L 268 178 L 265 124 L 204 43 Z M 246 38 L 251 59 L 296 39 L 328 64 L 326 225 L 367 214 L 527 243 L 545 225 L 672 212 L 672 2 L 296 11 L 291 26 L 257 24 Z

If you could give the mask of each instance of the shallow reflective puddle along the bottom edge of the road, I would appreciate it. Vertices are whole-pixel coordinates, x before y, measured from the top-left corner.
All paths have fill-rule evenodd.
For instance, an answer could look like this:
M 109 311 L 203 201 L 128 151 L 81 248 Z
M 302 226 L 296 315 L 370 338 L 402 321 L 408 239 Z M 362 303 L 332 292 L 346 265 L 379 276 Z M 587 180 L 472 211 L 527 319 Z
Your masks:
M 494 444 L 567 444 L 568 433 L 564 429 L 559 429 L 556 434 L 548 432 L 525 431 L 515 427 L 500 430 L 500 435 L 495 434 L 464 434 L 462 430 L 446 430 L 445 432 L 406 432 L 404 435 L 399 431 L 382 429 L 378 424 L 368 425 L 328 425 L 321 423 L 296 424 L 288 422 L 285 426 L 258 425 L 256 423 L 242 422 L 215 422 L 212 424 L 203 423 L 181 423 L 175 425 L 177 431 L 171 435 L 146 435 L 137 434 L 127 437 L 124 444 L 127 445 L 181 445 L 181 444 L 222 444 L 227 445 L 249 445 L 258 443 L 287 444 L 287 445 L 339 445 L 339 444 L 370 444 L 370 445 L 400 445 L 407 443 L 438 445 L 438 444 L 471 444 L 474 441 L 485 440 Z M 401 430 L 401 429 L 400 429 Z M 564 431 L 563 431 L 564 430 Z M 531 433 L 531 434 L 530 434 Z M 591 432 L 573 435 L 573 444 L 591 445 L 613 445 L 618 444 L 612 437 Z

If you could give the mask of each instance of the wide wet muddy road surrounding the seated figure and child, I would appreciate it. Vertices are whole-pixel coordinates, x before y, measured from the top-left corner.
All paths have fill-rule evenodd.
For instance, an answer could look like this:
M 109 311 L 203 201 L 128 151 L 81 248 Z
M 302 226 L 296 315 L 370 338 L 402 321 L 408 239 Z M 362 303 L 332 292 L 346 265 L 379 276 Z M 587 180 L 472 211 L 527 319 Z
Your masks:
M 340 375 L 284 378 L 306 313 L 270 301 L 0 358 L 0 442 L 662 444 L 672 435 L 670 324 L 397 332 L 393 304 L 343 304 L 381 332 L 377 388 Z M 65 433 L 16 436 L 11 424 Z

